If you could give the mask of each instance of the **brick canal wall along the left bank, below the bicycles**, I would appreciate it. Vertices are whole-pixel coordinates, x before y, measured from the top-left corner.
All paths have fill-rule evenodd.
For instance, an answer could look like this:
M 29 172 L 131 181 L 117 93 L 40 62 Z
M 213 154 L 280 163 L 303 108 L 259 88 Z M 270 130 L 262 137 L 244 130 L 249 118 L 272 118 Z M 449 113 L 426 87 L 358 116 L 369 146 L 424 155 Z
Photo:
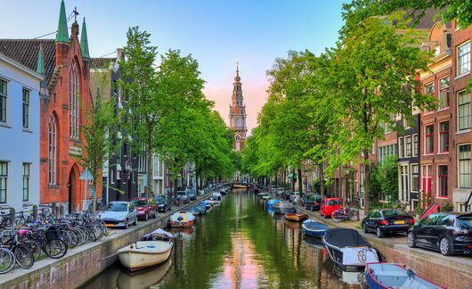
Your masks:
M 199 202 L 208 198 L 201 196 Z M 76 288 L 100 274 L 118 260 L 116 252 L 127 244 L 141 239 L 142 235 L 167 226 L 168 217 L 175 211 L 189 208 L 195 202 L 165 214 L 157 219 L 139 222 L 138 226 L 127 230 L 114 229 L 112 234 L 102 240 L 71 249 L 59 260 L 45 259 L 35 262 L 32 268 L 15 268 L 12 272 L 0 275 L 0 288 Z

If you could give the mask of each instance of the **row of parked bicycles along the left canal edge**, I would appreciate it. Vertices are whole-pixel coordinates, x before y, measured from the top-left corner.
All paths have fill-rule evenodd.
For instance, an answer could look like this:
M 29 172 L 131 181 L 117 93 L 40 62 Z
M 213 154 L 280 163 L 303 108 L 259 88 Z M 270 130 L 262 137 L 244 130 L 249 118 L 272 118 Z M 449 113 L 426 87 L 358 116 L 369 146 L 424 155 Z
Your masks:
M 45 257 L 60 259 L 69 249 L 96 242 L 107 234 L 102 220 L 93 220 L 90 213 L 74 213 L 57 218 L 49 210 L 20 211 L 12 220 L 0 214 L 0 274 L 15 268 L 31 268 Z

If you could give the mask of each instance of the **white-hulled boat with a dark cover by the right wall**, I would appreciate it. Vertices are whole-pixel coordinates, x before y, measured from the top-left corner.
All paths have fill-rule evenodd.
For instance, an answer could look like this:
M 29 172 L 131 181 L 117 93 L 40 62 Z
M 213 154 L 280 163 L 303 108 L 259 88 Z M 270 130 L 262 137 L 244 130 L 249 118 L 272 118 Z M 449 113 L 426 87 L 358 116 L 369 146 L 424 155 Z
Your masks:
M 322 242 L 328 249 L 331 260 L 343 269 L 364 268 L 366 263 L 379 261 L 377 250 L 354 229 L 328 229 Z

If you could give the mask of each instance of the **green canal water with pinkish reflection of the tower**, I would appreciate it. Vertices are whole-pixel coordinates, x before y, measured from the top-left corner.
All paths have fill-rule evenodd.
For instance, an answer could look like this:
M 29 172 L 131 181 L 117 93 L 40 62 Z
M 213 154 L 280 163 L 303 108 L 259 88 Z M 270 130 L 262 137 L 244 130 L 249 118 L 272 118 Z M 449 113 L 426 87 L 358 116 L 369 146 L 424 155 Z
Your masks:
M 300 224 L 271 215 L 246 190 L 233 190 L 193 228 L 172 229 L 166 263 L 129 273 L 117 263 L 85 288 L 361 288 Z

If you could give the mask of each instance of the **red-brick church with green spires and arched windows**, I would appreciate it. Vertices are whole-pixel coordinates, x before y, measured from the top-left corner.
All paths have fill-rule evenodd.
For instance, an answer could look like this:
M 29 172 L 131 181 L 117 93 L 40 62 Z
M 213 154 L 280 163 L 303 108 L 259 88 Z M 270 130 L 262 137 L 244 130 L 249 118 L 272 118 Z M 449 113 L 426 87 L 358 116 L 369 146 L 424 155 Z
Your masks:
M 79 42 L 79 25 L 74 21 L 69 37 L 62 1 L 55 39 L 0 39 L 4 54 L 45 75 L 40 94 L 40 202 L 56 202 L 69 212 L 82 208 L 89 198 L 77 161 L 84 142 L 82 112 L 92 102 L 85 20 L 82 30 Z M 97 192 L 101 195 L 101 188 Z

